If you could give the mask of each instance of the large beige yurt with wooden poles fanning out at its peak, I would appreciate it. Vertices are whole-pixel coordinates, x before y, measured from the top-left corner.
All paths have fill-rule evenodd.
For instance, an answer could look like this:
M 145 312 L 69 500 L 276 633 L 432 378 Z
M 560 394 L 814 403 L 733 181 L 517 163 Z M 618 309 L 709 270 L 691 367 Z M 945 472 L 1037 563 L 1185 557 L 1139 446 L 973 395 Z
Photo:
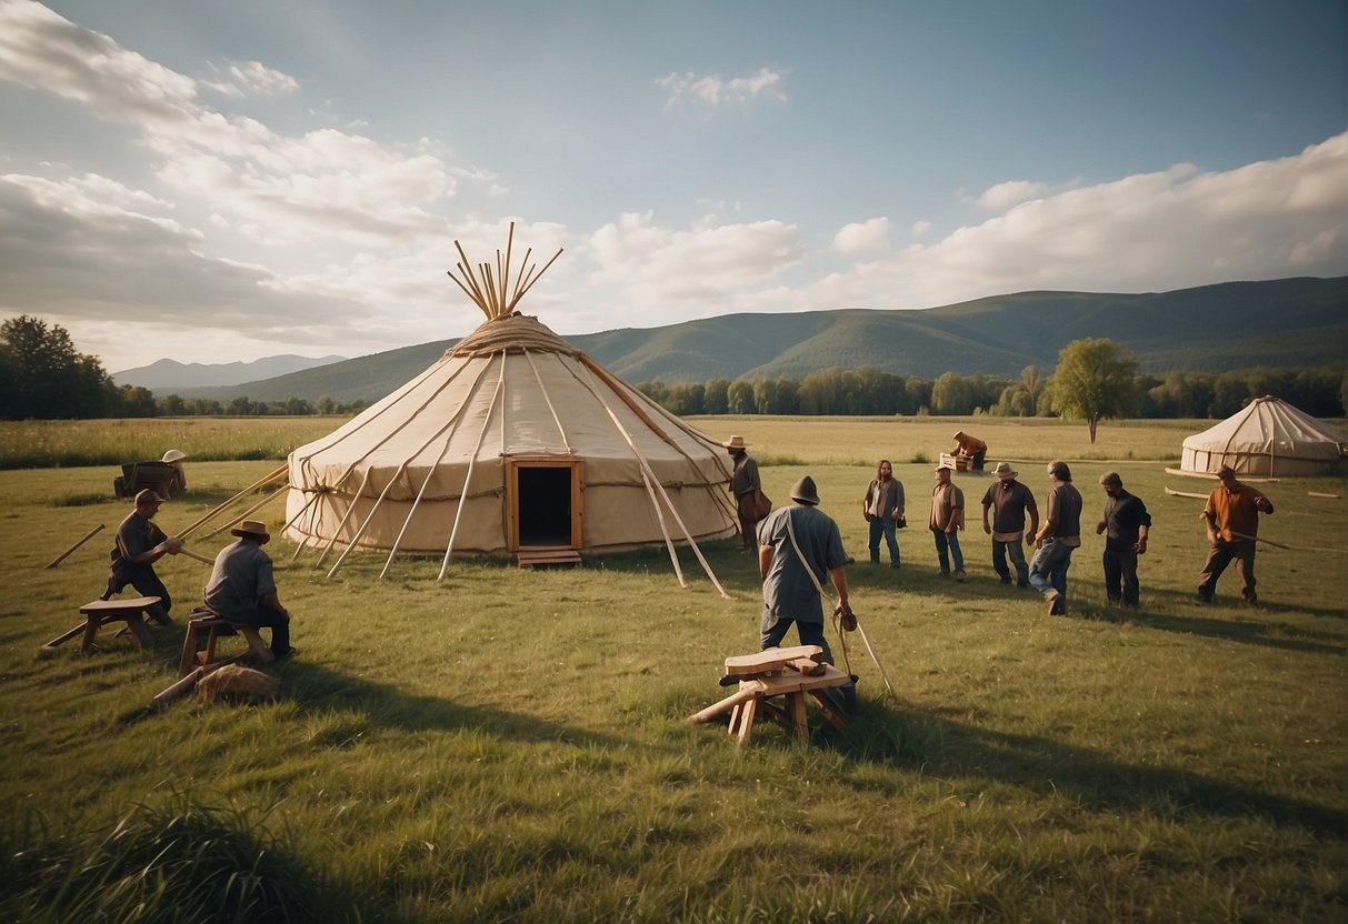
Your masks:
M 450 277 L 487 321 L 290 454 L 284 535 L 338 552 L 333 571 L 352 548 L 387 552 L 386 572 L 400 552 L 448 566 L 456 552 L 524 563 L 648 544 L 665 544 L 678 571 L 675 544 L 687 543 L 714 582 L 697 540 L 736 529 L 721 444 L 515 311 L 542 273 L 535 264 L 508 288 L 510 244 L 496 272 L 469 265 L 464 256 Z

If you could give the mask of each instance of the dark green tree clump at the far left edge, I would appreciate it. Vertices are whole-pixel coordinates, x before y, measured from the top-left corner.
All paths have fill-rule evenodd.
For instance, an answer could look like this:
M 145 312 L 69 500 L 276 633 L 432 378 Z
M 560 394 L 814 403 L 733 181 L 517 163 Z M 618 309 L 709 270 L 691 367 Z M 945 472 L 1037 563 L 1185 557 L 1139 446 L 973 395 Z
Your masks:
M 61 325 L 28 315 L 0 325 L 0 418 L 97 418 L 113 395 L 98 358 L 77 352 Z

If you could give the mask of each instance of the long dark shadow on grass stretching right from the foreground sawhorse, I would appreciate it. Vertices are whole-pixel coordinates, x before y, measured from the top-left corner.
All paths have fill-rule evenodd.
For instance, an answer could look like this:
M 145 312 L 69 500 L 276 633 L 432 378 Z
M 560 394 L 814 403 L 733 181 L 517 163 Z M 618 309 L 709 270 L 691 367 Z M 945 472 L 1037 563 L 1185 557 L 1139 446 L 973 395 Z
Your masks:
M 941 713 L 961 713 L 950 706 Z M 863 703 L 851 733 L 821 729 L 826 744 L 861 761 L 906 766 L 923 776 L 977 779 L 1043 796 L 1065 796 L 1092 811 L 1165 811 L 1213 818 L 1262 818 L 1339 840 L 1348 839 L 1348 812 L 1278 796 L 1201 773 L 1112 760 L 1051 738 L 995 731 L 940 715 L 905 715 Z

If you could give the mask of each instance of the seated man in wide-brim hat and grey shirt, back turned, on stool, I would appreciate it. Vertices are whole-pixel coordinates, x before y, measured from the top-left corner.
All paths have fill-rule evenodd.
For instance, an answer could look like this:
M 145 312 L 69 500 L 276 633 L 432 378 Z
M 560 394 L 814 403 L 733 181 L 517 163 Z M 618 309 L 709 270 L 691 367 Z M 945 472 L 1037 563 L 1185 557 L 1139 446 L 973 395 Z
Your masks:
M 271 558 L 262 547 L 271 540 L 267 524 L 244 520 L 235 529 L 239 541 L 225 546 L 216 556 L 204 594 L 208 609 L 231 622 L 271 629 L 271 653 L 276 659 L 294 653 L 290 647 L 290 612 L 276 595 Z

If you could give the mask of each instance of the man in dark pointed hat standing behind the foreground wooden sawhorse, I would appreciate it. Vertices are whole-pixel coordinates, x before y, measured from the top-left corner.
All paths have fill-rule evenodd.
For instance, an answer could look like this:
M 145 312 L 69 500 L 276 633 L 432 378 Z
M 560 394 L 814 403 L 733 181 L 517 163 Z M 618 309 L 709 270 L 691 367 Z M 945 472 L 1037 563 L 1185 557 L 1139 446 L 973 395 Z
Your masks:
M 824 637 L 824 601 L 820 586 L 833 581 L 838 593 L 837 613 L 851 613 L 847 593 L 848 555 L 833 517 L 818 509 L 814 478 L 805 475 L 791 488 L 794 504 L 767 515 L 758 528 L 759 574 L 763 576 L 760 647 L 776 648 L 795 624 L 802 645 L 818 645 L 824 660 L 833 652 Z M 814 576 L 810 576 L 810 572 Z M 842 688 L 848 704 L 856 687 Z

